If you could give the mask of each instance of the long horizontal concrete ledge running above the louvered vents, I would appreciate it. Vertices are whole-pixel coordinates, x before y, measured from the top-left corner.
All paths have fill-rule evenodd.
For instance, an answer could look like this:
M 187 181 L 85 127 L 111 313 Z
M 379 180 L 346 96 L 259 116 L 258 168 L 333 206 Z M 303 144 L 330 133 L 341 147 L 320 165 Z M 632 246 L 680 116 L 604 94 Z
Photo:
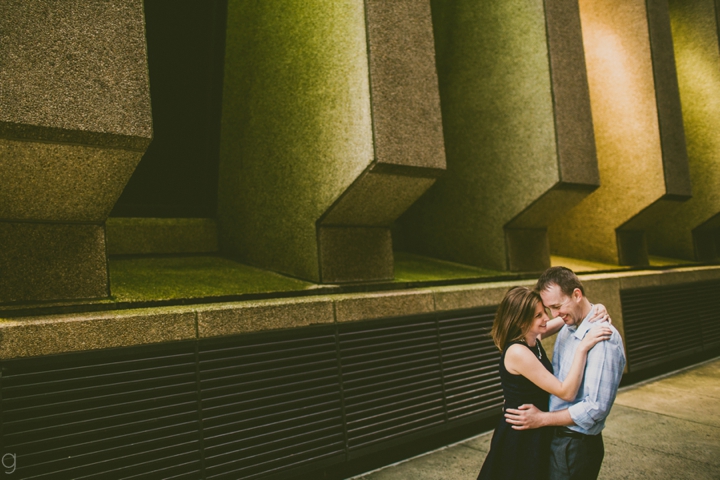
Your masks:
M 621 289 L 720 279 L 720 266 L 581 278 L 588 296 L 606 304 L 622 333 Z M 0 320 L 0 360 L 489 307 L 500 303 L 510 287 L 534 283 L 526 279 Z

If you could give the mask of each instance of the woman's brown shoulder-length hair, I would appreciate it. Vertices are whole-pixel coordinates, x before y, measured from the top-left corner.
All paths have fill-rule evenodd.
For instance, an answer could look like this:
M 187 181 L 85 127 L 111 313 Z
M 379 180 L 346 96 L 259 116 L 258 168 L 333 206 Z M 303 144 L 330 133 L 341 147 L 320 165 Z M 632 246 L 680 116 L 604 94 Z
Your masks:
M 500 302 L 493 322 L 492 338 L 502 352 L 508 342 L 520 340 L 532 325 L 540 295 L 526 287 L 513 287 Z

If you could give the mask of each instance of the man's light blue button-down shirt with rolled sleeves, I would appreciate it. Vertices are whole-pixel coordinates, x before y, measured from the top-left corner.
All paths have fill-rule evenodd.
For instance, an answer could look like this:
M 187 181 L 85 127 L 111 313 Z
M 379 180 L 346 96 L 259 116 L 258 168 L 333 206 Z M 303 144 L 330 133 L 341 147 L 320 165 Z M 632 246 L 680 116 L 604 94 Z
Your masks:
M 600 323 L 590 323 L 587 317 L 580 326 L 565 325 L 558 332 L 553 352 L 553 368 L 560 381 L 565 380 L 575 351 L 585 334 Z M 625 368 L 625 349 L 618 331 L 609 340 L 595 345 L 588 353 L 583 381 L 572 402 L 550 396 L 550 411 L 567 408 L 575 425 L 568 428 L 588 435 L 597 435 L 605 427 L 605 417 L 610 413 Z

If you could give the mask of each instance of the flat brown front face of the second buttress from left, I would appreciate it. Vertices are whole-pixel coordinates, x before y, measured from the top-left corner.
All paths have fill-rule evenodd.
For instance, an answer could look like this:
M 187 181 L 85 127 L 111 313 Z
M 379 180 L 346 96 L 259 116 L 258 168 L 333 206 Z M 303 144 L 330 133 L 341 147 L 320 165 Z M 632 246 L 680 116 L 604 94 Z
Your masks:
M 445 169 L 430 1 L 368 0 L 365 8 L 375 159 Z

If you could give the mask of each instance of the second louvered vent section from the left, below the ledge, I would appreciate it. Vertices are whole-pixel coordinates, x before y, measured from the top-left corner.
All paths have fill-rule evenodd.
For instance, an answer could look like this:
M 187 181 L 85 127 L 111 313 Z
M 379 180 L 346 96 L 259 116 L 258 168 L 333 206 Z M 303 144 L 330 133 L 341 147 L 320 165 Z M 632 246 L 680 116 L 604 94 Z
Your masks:
M 333 329 L 203 343 L 206 478 L 257 478 L 344 460 Z

